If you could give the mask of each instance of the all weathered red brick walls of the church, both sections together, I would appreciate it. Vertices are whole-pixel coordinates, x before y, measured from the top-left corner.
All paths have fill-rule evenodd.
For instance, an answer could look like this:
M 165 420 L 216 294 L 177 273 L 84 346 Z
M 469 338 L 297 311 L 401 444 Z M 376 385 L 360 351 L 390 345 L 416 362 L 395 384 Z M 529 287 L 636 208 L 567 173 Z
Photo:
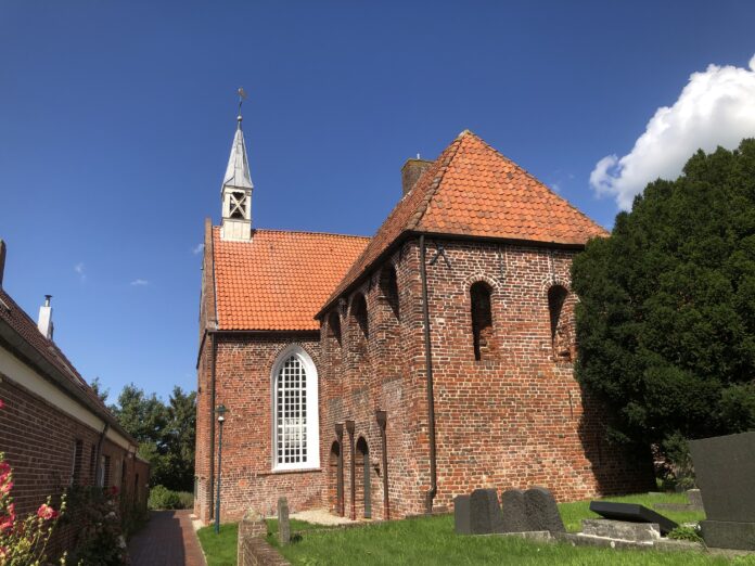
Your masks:
M 436 258 L 439 245 L 445 259 Z M 609 415 L 574 378 L 577 299 L 570 293 L 570 268 L 575 253 L 428 241 L 436 509 L 449 507 L 455 496 L 481 487 L 539 485 L 560 501 L 652 488 L 648 462 L 605 442 Z M 471 294 L 477 282 L 489 290 L 491 319 L 491 324 L 485 323 L 479 360 Z M 563 292 L 552 291 L 556 286 Z M 216 404 L 230 410 L 223 432 L 223 519 L 239 518 L 248 507 L 272 513 L 281 494 L 289 498 L 292 511 L 324 506 L 338 513 L 343 504 L 346 516 L 359 518 L 366 514 L 366 492 L 370 516 L 381 519 L 386 472 L 392 518 L 425 510 L 430 438 L 417 240 L 406 242 L 323 317 L 319 342 L 294 335 L 216 336 Z M 318 368 L 321 469 L 272 473 L 270 372 L 278 353 L 294 342 Z M 208 349 L 209 340 L 205 344 Z M 203 355 L 197 512 L 205 520 L 212 515 L 206 480 L 210 459 L 209 442 L 200 437 L 208 440 L 208 363 Z M 387 413 L 387 471 L 378 410 Z M 345 423 L 342 443 L 338 423 Z M 343 502 L 337 498 L 340 451 Z

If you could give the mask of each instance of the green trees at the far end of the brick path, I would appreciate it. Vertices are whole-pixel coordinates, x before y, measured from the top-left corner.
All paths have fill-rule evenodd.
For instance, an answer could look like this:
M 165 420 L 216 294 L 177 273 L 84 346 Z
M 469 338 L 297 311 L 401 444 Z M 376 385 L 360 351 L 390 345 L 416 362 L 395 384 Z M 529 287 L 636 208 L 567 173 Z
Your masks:
M 130 384 L 111 409 L 151 464 L 150 483 L 175 491 L 194 489 L 196 394 L 175 387 L 168 404 Z

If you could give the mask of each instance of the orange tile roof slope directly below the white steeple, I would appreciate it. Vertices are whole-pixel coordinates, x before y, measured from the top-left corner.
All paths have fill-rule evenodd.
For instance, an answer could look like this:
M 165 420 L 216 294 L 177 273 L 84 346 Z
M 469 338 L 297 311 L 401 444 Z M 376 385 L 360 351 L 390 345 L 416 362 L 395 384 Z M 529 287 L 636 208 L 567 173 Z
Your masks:
M 223 242 L 213 228 L 220 330 L 317 331 L 315 314 L 369 237 L 253 230 Z

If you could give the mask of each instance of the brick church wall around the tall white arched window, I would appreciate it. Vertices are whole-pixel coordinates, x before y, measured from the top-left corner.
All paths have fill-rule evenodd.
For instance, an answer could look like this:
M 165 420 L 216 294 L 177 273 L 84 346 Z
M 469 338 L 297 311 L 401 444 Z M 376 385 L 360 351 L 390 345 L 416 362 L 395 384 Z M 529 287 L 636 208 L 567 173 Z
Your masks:
M 222 437 L 221 520 L 236 520 L 248 509 L 272 514 L 278 498 L 286 496 L 292 512 L 318 506 L 322 500 L 322 471 L 273 472 L 271 369 L 279 355 L 291 344 L 300 345 L 320 364 L 317 333 L 287 335 L 217 334 L 215 404 L 228 413 Z M 207 347 L 209 355 L 209 346 Z M 204 356 L 203 356 L 204 358 Z M 208 360 L 200 363 L 210 365 Z M 213 515 L 214 496 L 209 478 L 209 369 L 197 398 L 197 503 L 203 522 Z M 201 378 L 202 381 L 202 378 Z M 217 469 L 219 427 L 215 427 L 214 465 Z M 215 478 L 217 483 L 217 477 Z M 203 501 L 200 501 L 203 500 Z

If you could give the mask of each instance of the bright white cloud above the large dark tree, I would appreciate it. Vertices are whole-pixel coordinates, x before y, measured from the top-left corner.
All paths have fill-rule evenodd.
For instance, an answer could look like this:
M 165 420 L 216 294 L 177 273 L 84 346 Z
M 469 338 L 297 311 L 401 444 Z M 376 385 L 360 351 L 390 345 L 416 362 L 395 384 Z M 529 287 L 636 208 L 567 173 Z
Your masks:
M 611 195 L 625 210 L 645 184 L 675 179 L 694 152 L 732 150 L 755 136 L 755 56 L 750 68 L 708 65 L 693 73 L 677 101 L 655 111 L 645 131 L 623 157 L 607 155 L 590 173 L 599 195 Z

